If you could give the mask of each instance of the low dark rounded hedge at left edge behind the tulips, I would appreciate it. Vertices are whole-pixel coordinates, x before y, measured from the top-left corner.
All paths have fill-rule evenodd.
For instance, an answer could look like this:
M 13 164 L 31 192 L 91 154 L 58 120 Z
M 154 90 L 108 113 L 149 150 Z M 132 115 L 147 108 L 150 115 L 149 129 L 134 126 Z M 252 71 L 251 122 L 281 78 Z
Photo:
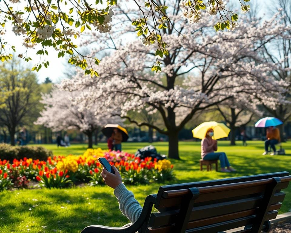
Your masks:
M 5 143 L 0 144 L 0 159 L 10 160 L 32 158 L 46 161 L 49 156 L 52 156 L 52 151 L 44 147 L 30 146 L 11 146 Z

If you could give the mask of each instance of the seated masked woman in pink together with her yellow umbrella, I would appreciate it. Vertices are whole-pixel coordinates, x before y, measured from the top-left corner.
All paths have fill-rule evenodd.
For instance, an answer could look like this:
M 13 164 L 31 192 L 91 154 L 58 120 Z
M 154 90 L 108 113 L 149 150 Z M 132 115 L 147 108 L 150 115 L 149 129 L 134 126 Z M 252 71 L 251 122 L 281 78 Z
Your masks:
M 222 172 L 236 171 L 230 167 L 228 158 L 224 152 L 217 151 L 217 140 L 219 138 L 227 137 L 230 129 L 223 123 L 215 121 L 203 122 L 192 130 L 193 137 L 201 140 L 201 158 L 203 160 L 218 160 Z

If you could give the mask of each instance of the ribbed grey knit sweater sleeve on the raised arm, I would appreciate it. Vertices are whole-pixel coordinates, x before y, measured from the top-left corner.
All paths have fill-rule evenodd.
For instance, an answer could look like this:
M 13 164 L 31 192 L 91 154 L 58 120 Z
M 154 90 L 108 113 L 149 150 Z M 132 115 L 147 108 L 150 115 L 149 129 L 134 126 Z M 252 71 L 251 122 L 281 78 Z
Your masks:
M 128 191 L 124 184 L 119 184 L 114 190 L 114 195 L 118 200 L 119 209 L 122 214 L 125 215 L 131 223 L 134 223 L 139 218 L 142 207 L 134 198 L 133 193 Z

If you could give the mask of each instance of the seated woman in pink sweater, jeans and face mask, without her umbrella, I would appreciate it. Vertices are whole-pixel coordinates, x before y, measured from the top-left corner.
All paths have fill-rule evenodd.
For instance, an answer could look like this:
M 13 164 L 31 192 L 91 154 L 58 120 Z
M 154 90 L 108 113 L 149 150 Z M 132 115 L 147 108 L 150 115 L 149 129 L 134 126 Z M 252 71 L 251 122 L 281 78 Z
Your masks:
M 222 172 L 236 171 L 230 167 L 229 161 L 224 152 L 214 152 L 217 151 L 217 141 L 212 139 L 213 135 L 213 129 L 209 128 L 206 131 L 205 138 L 203 138 L 201 141 L 201 158 L 203 160 L 219 159 Z

